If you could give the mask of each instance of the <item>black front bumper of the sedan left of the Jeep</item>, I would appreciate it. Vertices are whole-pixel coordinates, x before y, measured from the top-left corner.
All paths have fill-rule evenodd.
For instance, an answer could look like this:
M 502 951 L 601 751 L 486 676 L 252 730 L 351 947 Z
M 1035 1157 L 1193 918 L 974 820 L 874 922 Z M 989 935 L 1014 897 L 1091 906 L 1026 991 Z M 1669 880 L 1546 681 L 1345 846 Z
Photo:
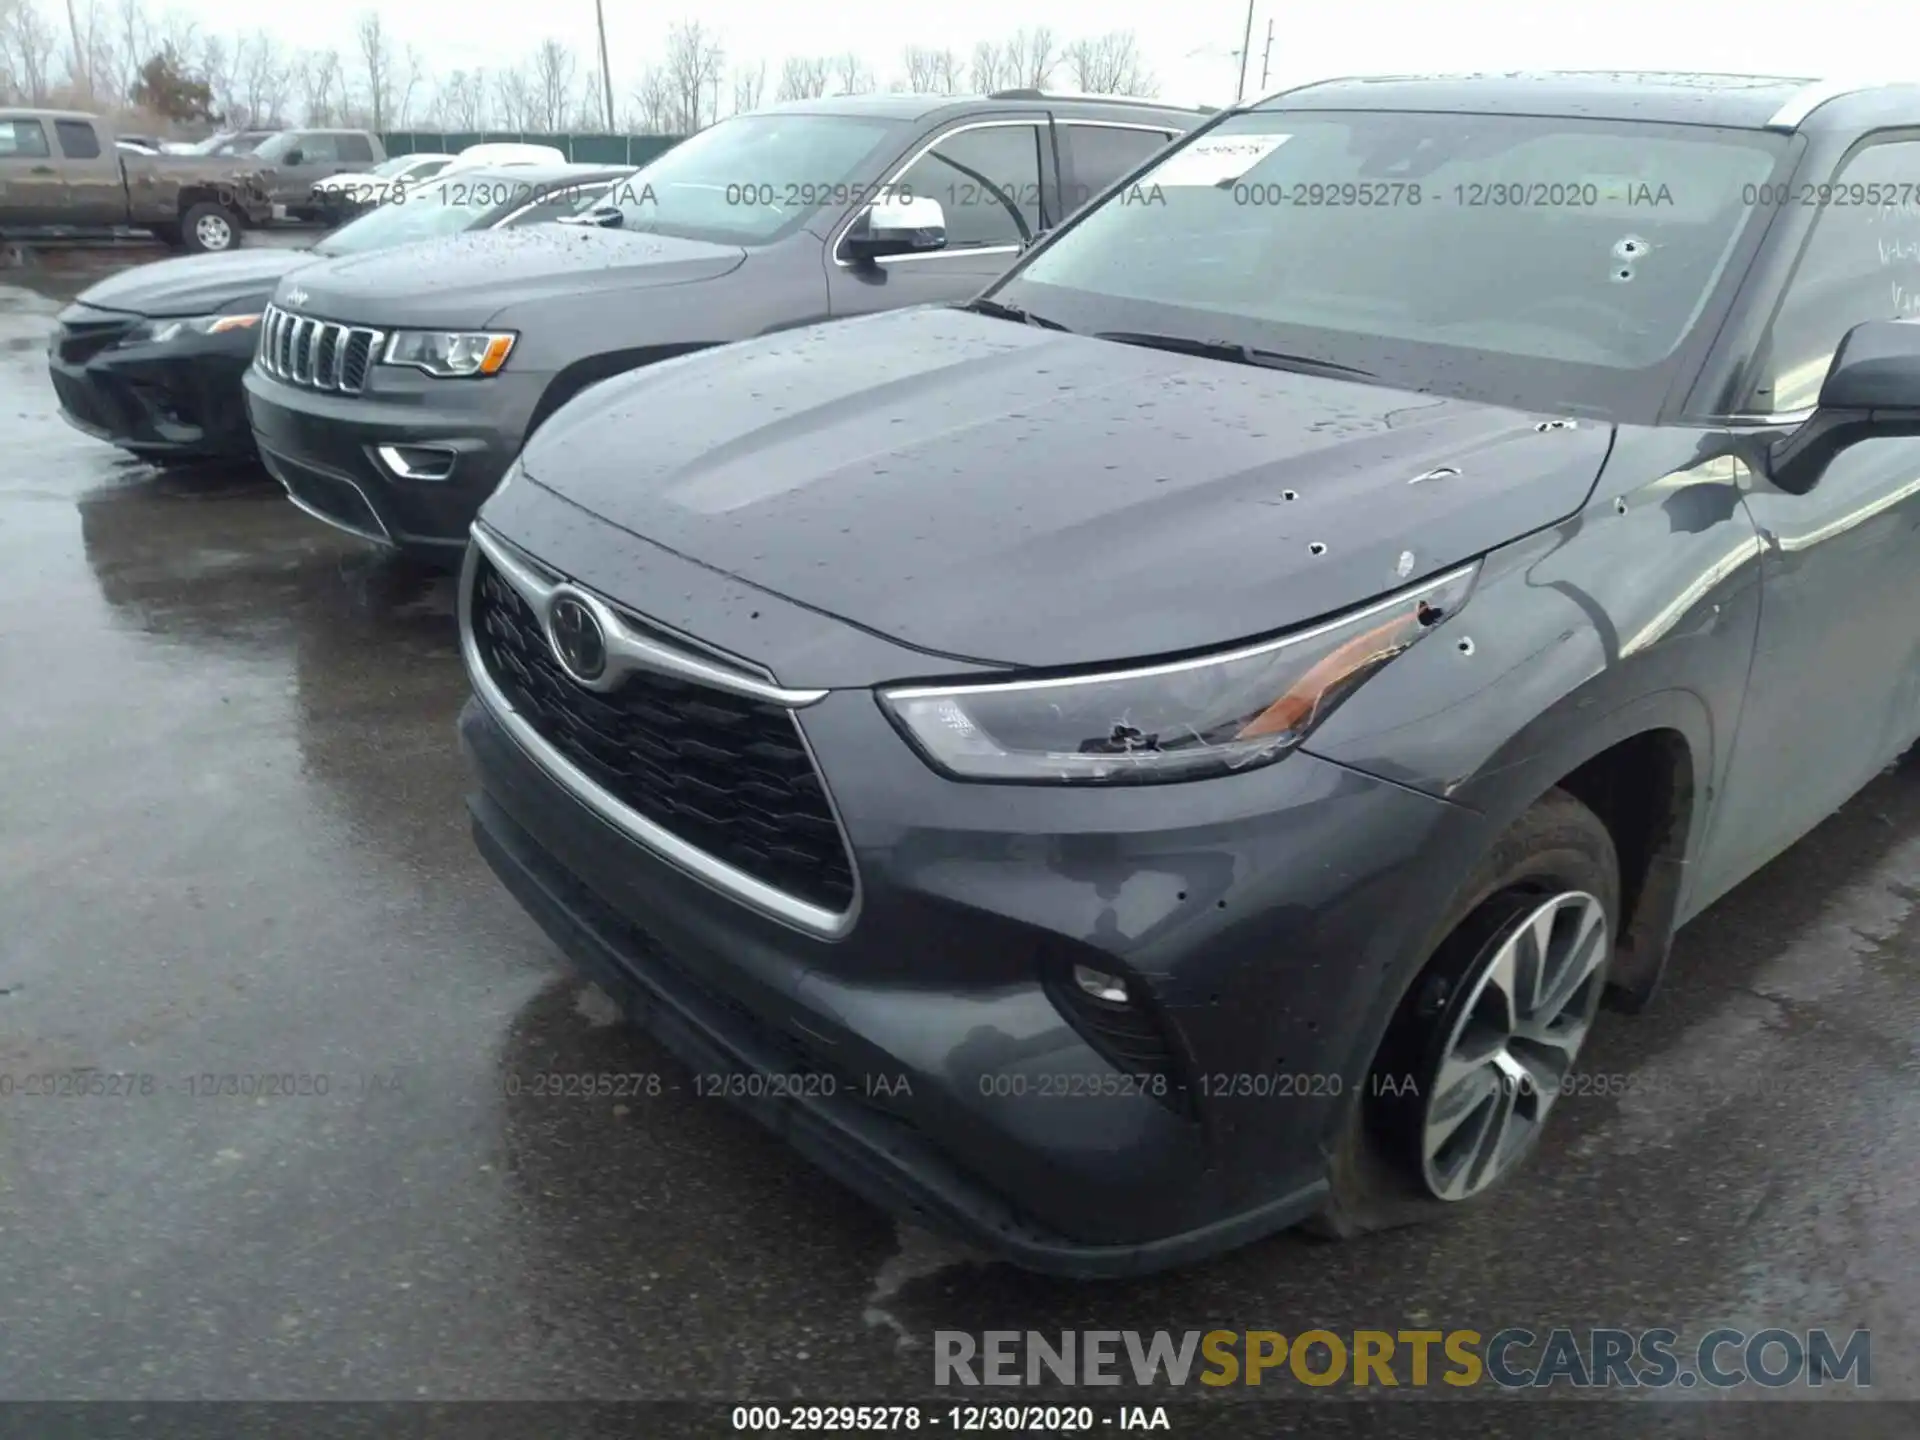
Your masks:
M 246 459 L 253 455 L 240 378 L 253 332 L 184 336 L 67 359 L 63 332 L 46 357 L 61 417 L 134 455 Z

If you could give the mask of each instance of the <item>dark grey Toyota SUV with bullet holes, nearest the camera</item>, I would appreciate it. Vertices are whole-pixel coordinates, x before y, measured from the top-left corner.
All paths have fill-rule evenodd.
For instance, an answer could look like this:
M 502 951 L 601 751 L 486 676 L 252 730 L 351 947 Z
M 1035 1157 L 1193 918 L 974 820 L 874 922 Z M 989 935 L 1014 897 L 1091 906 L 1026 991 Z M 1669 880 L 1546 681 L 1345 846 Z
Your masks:
M 1325 83 L 970 305 L 612 380 L 474 524 L 478 843 L 712 1089 L 1020 1263 L 1486 1196 L 1603 991 L 1920 733 L 1916 136 Z

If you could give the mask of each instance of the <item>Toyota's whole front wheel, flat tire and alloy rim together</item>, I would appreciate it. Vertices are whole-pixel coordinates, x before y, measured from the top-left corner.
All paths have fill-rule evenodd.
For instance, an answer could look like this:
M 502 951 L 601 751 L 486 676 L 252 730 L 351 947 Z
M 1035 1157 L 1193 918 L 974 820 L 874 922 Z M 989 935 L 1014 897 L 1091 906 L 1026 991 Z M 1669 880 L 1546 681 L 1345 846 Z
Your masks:
M 1619 916 L 1613 835 L 1549 791 L 1461 889 L 1348 1110 L 1309 1229 L 1444 1215 L 1523 1165 L 1576 1081 Z

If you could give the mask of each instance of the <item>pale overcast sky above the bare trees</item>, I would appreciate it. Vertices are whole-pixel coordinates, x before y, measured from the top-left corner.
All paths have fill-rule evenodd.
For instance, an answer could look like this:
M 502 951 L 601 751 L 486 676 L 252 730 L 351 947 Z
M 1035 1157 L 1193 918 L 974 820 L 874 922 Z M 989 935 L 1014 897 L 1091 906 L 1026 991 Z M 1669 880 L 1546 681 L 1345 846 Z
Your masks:
M 165 4 L 154 4 L 156 12 Z M 259 0 L 173 0 L 207 29 L 238 35 L 265 25 L 294 46 L 353 50 L 357 0 L 323 6 L 263 6 Z M 614 86 L 626 92 L 664 52 L 668 25 L 697 17 L 720 33 L 728 65 L 768 61 L 768 98 L 780 61 L 791 54 L 856 50 L 879 81 L 900 73 L 908 44 L 952 46 L 998 40 L 1021 25 L 1046 23 L 1064 42 L 1131 29 L 1164 98 L 1179 104 L 1233 100 L 1231 52 L 1246 25 L 1244 0 L 964 0 L 964 4 L 810 4 L 808 0 L 699 0 L 632 4 L 607 0 L 607 44 Z M 476 65 L 513 65 L 545 36 L 595 54 L 593 0 L 405 0 L 382 6 L 399 42 L 413 42 L 434 75 Z M 1866 50 L 1905 50 L 1912 4 L 1824 0 L 1814 10 L 1736 0 L 1256 0 L 1248 92 L 1258 90 L 1261 50 L 1273 19 L 1269 88 L 1327 77 L 1390 71 L 1471 69 L 1711 69 L 1851 77 L 1876 61 Z M 1194 54 L 1198 52 L 1198 54 Z M 1066 86 L 1068 73 L 1054 83 Z

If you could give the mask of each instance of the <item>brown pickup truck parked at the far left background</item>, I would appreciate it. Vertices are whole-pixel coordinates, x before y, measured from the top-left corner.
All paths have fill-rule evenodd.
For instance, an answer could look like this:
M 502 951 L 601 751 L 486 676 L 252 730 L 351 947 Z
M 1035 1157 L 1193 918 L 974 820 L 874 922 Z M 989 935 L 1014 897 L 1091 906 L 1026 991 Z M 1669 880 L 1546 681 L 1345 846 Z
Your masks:
M 202 253 L 271 217 L 252 156 L 140 156 L 98 115 L 0 109 L 0 236 L 136 228 Z

